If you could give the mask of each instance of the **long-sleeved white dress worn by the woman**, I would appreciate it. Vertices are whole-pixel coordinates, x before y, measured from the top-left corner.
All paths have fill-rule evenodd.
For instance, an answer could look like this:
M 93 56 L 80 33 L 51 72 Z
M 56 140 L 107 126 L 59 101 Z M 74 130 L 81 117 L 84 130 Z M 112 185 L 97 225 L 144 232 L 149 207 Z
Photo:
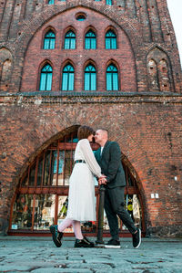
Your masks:
M 66 218 L 96 221 L 94 175 L 100 177 L 101 169 L 87 139 L 77 142 L 76 160 L 85 160 L 86 163 L 76 163 L 71 173 Z

